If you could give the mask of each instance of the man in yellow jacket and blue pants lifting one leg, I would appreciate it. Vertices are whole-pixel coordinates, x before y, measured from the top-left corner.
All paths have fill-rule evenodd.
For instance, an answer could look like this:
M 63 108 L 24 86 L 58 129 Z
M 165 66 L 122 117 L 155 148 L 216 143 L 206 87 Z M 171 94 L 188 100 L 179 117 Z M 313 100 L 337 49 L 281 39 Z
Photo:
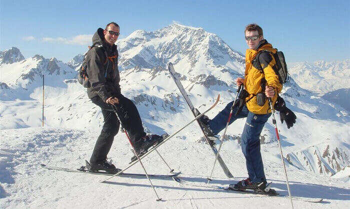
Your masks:
M 245 75 L 244 78 L 236 79 L 237 85 L 243 84 L 244 89 L 240 93 L 241 101 L 238 100 L 234 105 L 233 112 L 236 114 L 231 117 L 230 123 L 237 118 L 246 117 L 241 136 L 241 148 L 246 161 L 248 178 L 230 187 L 263 191 L 266 187 L 266 178 L 260 154 L 259 136 L 271 115 L 266 97 L 271 98 L 274 104 L 282 85 L 273 70 L 276 62 L 270 53 L 275 53 L 276 49 L 263 38 L 261 27 L 257 24 L 249 24 L 245 27 L 244 33 L 248 45 L 245 53 Z M 255 57 L 259 52 L 258 61 L 256 61 Z M 225 128 L 232 103 L 233 101 L 228 103 L 212 120 L 208 120 L 207 117 L 201 118 L 204 131 L 208 136 L 214 136 Z

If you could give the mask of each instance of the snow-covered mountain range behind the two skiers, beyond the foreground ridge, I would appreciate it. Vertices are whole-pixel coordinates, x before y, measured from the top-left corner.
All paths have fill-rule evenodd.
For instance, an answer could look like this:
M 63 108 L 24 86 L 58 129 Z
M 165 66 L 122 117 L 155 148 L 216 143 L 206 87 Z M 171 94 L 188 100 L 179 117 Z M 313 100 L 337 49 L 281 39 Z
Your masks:
M 244 74 L 244 55 L 202 28 L 171 24 L 151 32 L 136 30 L 116 45 L 122 93 L 136 104 L 145 130 L 151 133 L 171 133 L 191 120 L 167 63 L 174 64 L 199 110 L 221 95 L 217 108 L 208 114 L 210 118 L 234 99 L 234 80 Z M 64 63 L 41 55 L 25 59 L 15 47 L 0 52 L 0 129 L 41 126 L 44 75 L 45 126 L 99 132 L 101 112 L 76 81 L 83 56 L 77 54 Z M 296 63 L 289 68 L 291 79 L 281 96 L 296 114 L 297 123 L 291 129 L 278 123 L 278 129 L 286 162 L 296 169 L 331 176 L 350 165 L 348 66 L 347 59 Z M 243 126 L 244 120 L 239 119 L 229 127 L 223 152 L 240 152 Z M 180 135 L 184 140 L 203 143 L 195 125 Z M 260 142 L 264 157 L 274 159 L 278 155 L 270 120 Z

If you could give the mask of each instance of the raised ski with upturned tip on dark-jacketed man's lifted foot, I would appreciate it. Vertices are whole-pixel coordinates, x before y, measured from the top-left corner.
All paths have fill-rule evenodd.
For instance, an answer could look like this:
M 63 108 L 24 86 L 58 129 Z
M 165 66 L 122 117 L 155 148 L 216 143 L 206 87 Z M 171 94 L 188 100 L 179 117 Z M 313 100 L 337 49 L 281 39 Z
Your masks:
M 220 99 L 220 95 L 217 95 L 216 101 L 213 105 L 211 105 L 211 107 L 209 107 L 207 110 L 205 110 L 203 113 L 201 113 L 200 115 L 198 115 L 197 117 L 195 117 L 193 120 L 189 121 L 186 125 L 182 126 L 180 129 L 178 129 L 177 131 L 175 131 L 173 134 L 171 134 L 170 136 L 166 137 L 163 141 L 161 141 L 159 144 L 157 144 L 156 146 L 152 147 L 152 149 L 148 150 L 145 154 L 143 154 L 139 159 L 141 160 L 142 158 L 146 157 L 148 154 L 150 154 L 151 152 L 153 152 L 154 150 L 156 150 L 160 145 L 162 145 L 163 143 L 165 143 L 167 140 L 171 139 L 171 137 L 175 136 L 175 134 L 177 134 L 178 132 L 182 131 L 184 128 L 186 128 L 187 126 L 189 126 L 191 123 L 193 123 L 194 121 L 196 121 L 199 117 L 201 117 L 202 115 L 204 115 L 205 113 L 207 113 L 209 110 L 211 110 L 212 108 L 214 108 L 218 101 Z M 120 173 L 123 173 L 124 171 L 126 171 L 127 169 L 129 169 L 131 166 L 135 165 L 138 161 L 134 161 L 132 162 L 130 165 L 128 165 L 126 168 L 124 168 L 123 170 L 121 170 L 120 172 L 114 174 L 113 176 L 101 181 L 101 182 L 105 182 L 109 179 L 111 179 L 112 177 L 119 175 Z

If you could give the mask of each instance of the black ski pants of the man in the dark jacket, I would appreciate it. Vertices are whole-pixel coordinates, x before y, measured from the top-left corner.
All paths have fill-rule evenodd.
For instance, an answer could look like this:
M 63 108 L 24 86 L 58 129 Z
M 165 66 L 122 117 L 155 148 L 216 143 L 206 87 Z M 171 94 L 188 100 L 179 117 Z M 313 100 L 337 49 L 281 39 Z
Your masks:
M 131 100 L 122 95 L 118 99 L 119 104 L 115 105 L 116 111 L 121 120 L 121 124 L 129 134 L 131 143 L 135 145 L 136 141 L 146 135 L 142 127 L 141 118 L 136 106 Z M 91 101 L 101 108 L 104 119 L 102 131 L 97 138 L 90 158 L 90 163 L 96 164 L 103 162 L 107 158 L 114 136 L 118 133 L 120 123 L 110 104 L 103 102 L 99 96 L 92 97 Z

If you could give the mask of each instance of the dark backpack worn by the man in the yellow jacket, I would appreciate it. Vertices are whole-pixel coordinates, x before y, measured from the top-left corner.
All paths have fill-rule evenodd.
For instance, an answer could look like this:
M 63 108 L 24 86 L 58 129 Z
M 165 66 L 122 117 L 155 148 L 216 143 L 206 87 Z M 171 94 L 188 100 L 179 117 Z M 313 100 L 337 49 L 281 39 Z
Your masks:
M 276 61 L 276 65 L 274 65 L 272 68 L 274 72 L 277 74 L 279 82 L 281 84 L 288 82 L 289 75 L 288 75 L 287 64 L 285 63 L 284 54 L 281 51 L 276 51 L 276 53 L 272 53 L 268 50 L 259 51 L 259 53 L 254 58 L 254 62 L 257 62 L 257 66 L 259 68 L 258 70 L 260 70 L 260 72 L 263 73 L 263 69 L 259 61 L 259 56 L 263 51 L 267 51 L 268 53 L 272 54 L 272 56 L 274 57 L 274 60 Z

